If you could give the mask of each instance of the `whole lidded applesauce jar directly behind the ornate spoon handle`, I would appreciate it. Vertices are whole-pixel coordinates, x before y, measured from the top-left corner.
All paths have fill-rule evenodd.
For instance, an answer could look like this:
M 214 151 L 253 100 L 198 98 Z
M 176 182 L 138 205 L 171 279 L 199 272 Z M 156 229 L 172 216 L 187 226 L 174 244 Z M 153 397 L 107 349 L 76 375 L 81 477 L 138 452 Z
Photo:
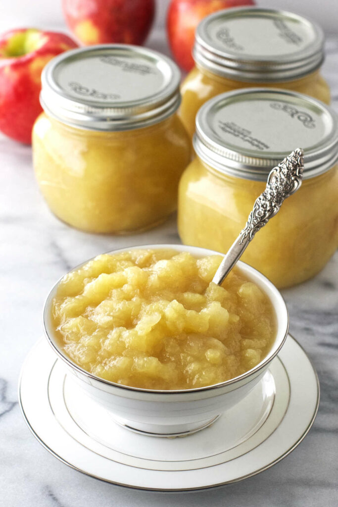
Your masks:
M 301 189 L 254 237 L 241 260 L 277 287 L 318 273 L 338 245 L 338 123 L 322 102 L 264 88 L 218 95 L 196 118 L 197 158 L 179 185 L 182 242 L 227 252 L 272 169 L 305 152 Z

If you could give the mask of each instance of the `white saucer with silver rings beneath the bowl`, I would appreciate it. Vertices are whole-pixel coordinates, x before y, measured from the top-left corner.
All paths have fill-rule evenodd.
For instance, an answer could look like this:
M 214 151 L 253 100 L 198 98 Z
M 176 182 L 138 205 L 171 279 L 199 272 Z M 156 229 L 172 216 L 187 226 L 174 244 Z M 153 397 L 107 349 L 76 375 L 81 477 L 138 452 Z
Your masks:
M 288 336 L 261 382 L 211 426 L 183 438 L 148 437 L 91 401 L 41 340 L 22 368 L 19 400 L 36 439 L 72 468 L 120 486 L 193 491 L 246 479 L 289 454 L 313 424 L 319 384 Z

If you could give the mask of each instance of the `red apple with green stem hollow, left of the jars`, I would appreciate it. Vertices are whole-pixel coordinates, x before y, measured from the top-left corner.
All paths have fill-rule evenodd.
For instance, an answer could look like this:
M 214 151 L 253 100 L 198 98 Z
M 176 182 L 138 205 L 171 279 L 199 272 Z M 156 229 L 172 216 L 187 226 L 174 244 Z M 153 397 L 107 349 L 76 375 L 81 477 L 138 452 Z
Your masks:
M 78 45 L 63 33 L 20 28 L 0 35 L 0 130 L 30 144 L 42 112 L 41 72 L 55 55 Z

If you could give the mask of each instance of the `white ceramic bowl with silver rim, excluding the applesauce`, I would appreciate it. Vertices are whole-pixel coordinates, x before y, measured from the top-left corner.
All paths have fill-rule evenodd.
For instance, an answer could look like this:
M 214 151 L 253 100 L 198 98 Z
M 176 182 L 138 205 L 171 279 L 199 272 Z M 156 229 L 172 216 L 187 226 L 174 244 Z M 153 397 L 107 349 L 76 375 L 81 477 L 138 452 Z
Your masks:
M 219 252 L 214 250 L 185 245 L 157 244 L 134 248 L 174 248 L 178 251 L 189 251 L 195 257 L 219 255 Z M 121 248 L 109 253 L 130 249 L 131 247 Z M 161 391 L 122 386 L 88 373 L 63 354 L 55 339 L 51 304 L 59 281 L 52 288 L 45 304 L 44 325 L 47 340 L 54 352 L 64 361 L 73 379 L 80 383 L 87 395 L 111 411 L 112 417 L 119 423 L 156 436 L 168 437 L 197 431 L 208 426 L 220 413 L 236 405 L 253 389 L 264 376 L 287 336 L 288 312 L 277 288 L 247 264 L 238 262 L 238 267 L 270 298 L 276 314 L 277 334 L 269 354 L 255 368 L 234 379 L 197 389 Z

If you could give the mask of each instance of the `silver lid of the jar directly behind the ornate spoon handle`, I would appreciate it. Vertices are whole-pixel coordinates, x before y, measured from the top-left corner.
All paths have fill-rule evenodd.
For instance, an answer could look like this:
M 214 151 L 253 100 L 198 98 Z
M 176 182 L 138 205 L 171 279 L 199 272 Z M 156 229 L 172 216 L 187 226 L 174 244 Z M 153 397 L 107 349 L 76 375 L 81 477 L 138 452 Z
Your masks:
M 205 102 L 196 117 L 194 148 L 211 167 L 259 181 L 303 148 L 304 179 L 311 178 L 338 160 L 337 116 L 301 93 L 244 88 Z

